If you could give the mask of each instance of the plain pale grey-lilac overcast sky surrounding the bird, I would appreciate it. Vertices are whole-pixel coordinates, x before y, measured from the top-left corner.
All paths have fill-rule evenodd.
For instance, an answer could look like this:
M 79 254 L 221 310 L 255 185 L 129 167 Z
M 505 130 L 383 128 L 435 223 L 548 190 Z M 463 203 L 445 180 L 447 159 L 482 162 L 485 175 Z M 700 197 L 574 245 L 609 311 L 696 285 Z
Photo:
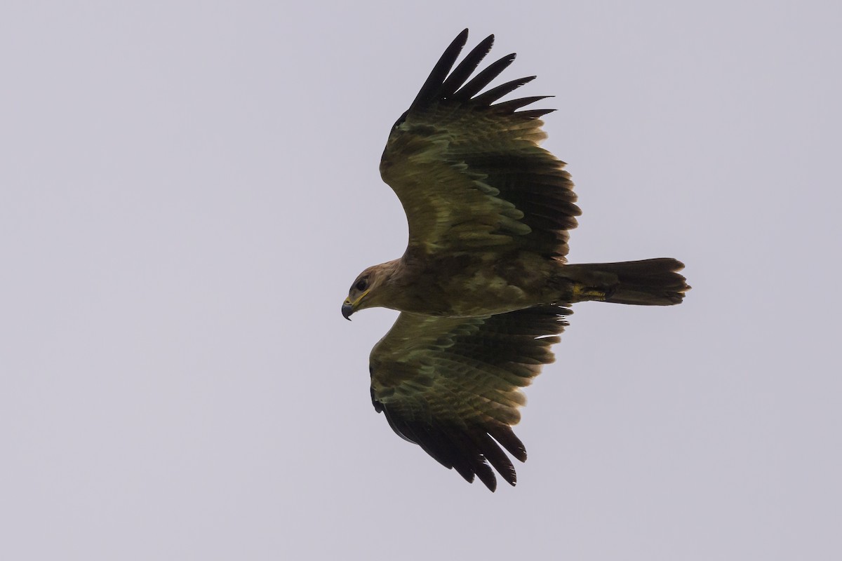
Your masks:
M 3 2 L 0 558 L 839 558 L 839 3 L 289 4 Z M 557 96 L 571 261 L 693 286 L 575 306 L 495 494 L 339 313 L 465 27 Z

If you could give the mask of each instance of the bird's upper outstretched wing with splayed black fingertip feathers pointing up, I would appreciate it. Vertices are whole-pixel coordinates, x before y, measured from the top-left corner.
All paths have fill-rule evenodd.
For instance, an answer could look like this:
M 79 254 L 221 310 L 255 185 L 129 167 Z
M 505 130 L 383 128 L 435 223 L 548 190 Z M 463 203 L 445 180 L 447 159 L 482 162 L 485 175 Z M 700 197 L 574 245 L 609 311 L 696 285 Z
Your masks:
M 393 127 L 381 176 L 407 214 L 410 251 L 520 249 L 563 258 L 581 212 L 564 162 L 538 146 L 546 138 L 539 117 L 552 109 L 519 110 L 546 96 L 496 103 L 534 76 L 480 93 L 514 61 L 504 56 L 471 78 L 493 39 L 452 72 L 467 29 L 445 50 Z

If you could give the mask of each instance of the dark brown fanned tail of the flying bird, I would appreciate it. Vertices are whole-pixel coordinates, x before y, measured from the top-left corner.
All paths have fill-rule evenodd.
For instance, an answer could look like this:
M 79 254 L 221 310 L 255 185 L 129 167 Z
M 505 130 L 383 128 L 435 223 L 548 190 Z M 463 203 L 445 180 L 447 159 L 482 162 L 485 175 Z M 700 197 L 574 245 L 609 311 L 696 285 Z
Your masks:
M 685 292 L 690 290 L 684 276 L 678 273 L 684 268 L 684 263 L 669 257 L 567 267 L 581 267 L 586 276 L 600 278 L 600 288 L 605 290 L 605 302 L 670 306 L 681 304 Z

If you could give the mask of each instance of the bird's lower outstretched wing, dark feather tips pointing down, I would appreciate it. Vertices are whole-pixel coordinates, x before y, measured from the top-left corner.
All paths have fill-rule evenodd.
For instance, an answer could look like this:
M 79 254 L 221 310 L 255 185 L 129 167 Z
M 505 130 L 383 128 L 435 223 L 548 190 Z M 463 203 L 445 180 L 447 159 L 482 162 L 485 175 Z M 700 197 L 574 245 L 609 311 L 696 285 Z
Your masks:
M 537 306 L 477 318 L 398 316 L 371 351 L 371 400 L 389 425 L 467 481 L 495 490 L 493 466 L 516 476 L 500 446 L 518 458 L 526 450 L 511 426 L 520 421 L 520 388 L 555 358 L 571 310 Z M 488 463 L 487 463 L 488 461 Z

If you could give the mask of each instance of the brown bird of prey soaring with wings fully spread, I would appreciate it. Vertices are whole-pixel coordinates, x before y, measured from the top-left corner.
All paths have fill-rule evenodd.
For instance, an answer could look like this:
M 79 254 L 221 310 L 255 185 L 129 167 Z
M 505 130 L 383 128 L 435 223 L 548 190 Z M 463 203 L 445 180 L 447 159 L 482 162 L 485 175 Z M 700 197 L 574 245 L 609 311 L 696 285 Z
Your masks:
M 493 470 L 516 481 L 503 449 L 526 459 L 511 428 L 520 388 L 554 360 L 568 306 L 679 304 L 690 287 L 670 258 L 568 264 L 581 212 L 564 162 L 538 146 L 552 109 L 529 108 L 546 96 L 498 101 L 534 76 L 485 89 L 514 61 L 474 73 L 493 35 L 454 68 L 467 35 L 445 50 L 383 151 L 381 176 L 407 214 L 407 250 L 360 273 L 342 315 L 401 312 L 371 351 L 375 409 L 400 437 L 495 490 Z

